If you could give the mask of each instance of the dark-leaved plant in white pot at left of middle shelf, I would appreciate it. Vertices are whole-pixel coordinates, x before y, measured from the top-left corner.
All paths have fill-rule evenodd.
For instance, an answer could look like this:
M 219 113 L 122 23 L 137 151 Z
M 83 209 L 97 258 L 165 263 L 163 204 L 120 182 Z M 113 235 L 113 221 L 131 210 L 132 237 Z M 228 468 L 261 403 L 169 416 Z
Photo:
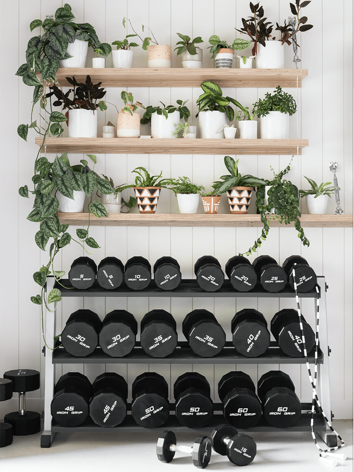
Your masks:
M 68 118 L 69 137 L 77 138 L 96 138 L 97 137 L 97 113 L 95 111 L 100 107 L 98 100 L 104 97 L 106 90 L 100 88 L 102 82 L 93 84 L 90 76 L 86 76 L 85 83 L 78 83 L 73 77 L 66 78 L 74 86 L 66 93 L 55 84 L 50 86 L 51 92 L 47 93 L 46 98 L 55 95 L 56 101 L 53 106 L 62 106 L 68 108 L 66 116 Z M 73 94 L 70 98 L 70 94 Z

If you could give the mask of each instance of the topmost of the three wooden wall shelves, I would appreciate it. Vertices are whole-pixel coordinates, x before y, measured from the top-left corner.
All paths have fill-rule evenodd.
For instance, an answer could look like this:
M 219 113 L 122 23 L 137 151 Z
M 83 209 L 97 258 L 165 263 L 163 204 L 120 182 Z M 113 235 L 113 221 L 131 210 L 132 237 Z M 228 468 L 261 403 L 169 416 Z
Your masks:
M 84 82 L 87 75 L 93 82 L 102 82 L 102 87 L 199 87 L 204 80 L 220 87 L 296 87 L 297 76 L 301 87 L 307 69 L 59 68 L 55 74 L 61 86 L 69 86 L 66 77 Z

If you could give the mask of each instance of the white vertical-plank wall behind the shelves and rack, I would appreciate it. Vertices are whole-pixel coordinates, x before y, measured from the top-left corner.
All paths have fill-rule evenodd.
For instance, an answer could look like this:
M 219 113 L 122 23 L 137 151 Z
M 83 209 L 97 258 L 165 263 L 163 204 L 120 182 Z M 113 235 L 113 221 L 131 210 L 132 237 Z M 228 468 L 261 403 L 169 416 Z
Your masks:
M 71 5 L 77 22 L 89 22 L 95 26 L 101 41 L 112 43 L 126 34 L 122 18 L 127 16 L 140 31 L 140 25 L 152 28 L 160 44 L 174 45 L 176 32 L 201 35 L 204 52 L 204 67 L 213 67 L 209 58 L 207 39 L 211 34 L 218 34 L 222 39 L 232 42 L 235 37 L 234 27 L 241 26 L 241 18 L 249 15 L 248 0 L 72 0 Z M 262 2 L 266 16 L 273 22 L 283 21 L 290 14 L 287 1 L 264 0 Z M 12 0 L 1 1 L 1 175 L 0 192 L 2 203 L 1 222 L 1 342 L 0 373 L 12 368 L 34 368 L 42 373 L 44 380 L 44 358 L 41 354 L 43 339 L 38 307 L 29 297 L 38 292 L 32 280 L 32 273 L 46 263 L 47 254 L 40 251 L 34 243 L 38 225 L 25 218 L 32 207 L 32 200 L 19 197 L 19 186 L 28 184 L 33 174 L 33 161 L 37 153 L 34 145 L 34 133 L 29 132 L 28 143 L 18 138 L 16 129 L 20 123 L 28 123 L 31 103 L 31 90 L 15 77 L 15 72 L 25 61 L 25 49 L 33 33 L 29 23 L 36 18 L 45 19 L 47 14 L 54 14 L 61 2 L 53 0 Z M 306 185 L 301 178 L 307 175 L 317 182 L 332 180 L 329 173 L 329 161 L 338 161 L 338 180 L 341 186 L 341 199 L 346 213 L 353 213 L 352 187 L 352 17 L 353 4 L 348 0 L 313 0 L 303 14 L 308 16 L 314 28 L 298 39 L 300 41 L 301 67 L 308 68 L 308 77 L 299 90 L 299 132 L 300 137 L 309 139 L 309 147 L 303 150 L 299 162 L 294 158 L 289 178 L 300 187 Z M 328 25 L 331 31 L 328 34 Z M 327 27 L 326 27 L 327 26 Z M 36 30 L 37 31 L 37 30 Z M 128 31 L 131 32 L 131 31 Z M 239 33 L 237 33 L 239 36 Z M 335 37 L 335 38 L 334 38 Z M 335 39 L 333 41 L 332 39 Z M 6 45 L 6 47 L 5 47 Z M 180 67 L 180 58 L 173 54 L 173 67 Z M 141 48 L 134 49 L 134 66 L 147 67 L 147 53 Z M 91 65 L 93 52 L 89 52 L 87 66 Z M 286 48 L 285 67 L 292 68 L 292 48 Z M 111 67 L 111 58 L 106 61 Z M 145 105 L 156 105 L 159 100 L 165 104 L 174 104 L 177 99 L 189 99 L 188 105 L 195 116 L 196 99 L 201 93 L 199 88 L 131 88 L 136 100 Z M 264 96 L 267 89 L 224 88 L 224 93 L 236 97 L 242 104 L 252 106 Z M 294 94 L 296 89 L 287 89 Z M 122 106 L 119 88 L 109 88 L 106 99 Z M 6 103 L 6 108 L 4 104 Z M 115 122 L 115 110 L 111 107 L 99 114 L 99 127 L 107 120 Z M 297 117 L 291 119 L 291 136 L 296 137 Z M 195 118 L 192 119 L 197 124 Z M 142 134 L 148 134 L 147 126 Z M 82 155 L 71 155 L 75 163 Z M 276 171 L 288 164 L 288 156 L 244 156 L 240 159 L 243 173 L 254 173 L 270 178 L 272 165 Z M 96 170 L 112 176 L 115 182 L 132 182 L 130 173 L 136 166 L 142 165 L 152 173 L 163 171 L 164 177 L 186 175 L 197 184 L 210 184 L 225 173 L 222 156 L 186 156 L 186 155 L 100 155 Z M 329 202 L 328 213 L 333 213 L 334 198 Z M 202 212 L 202 206 L 200 206 Z M 177 203 L 173 194 L 163 191 L 158 212 L 176 213 Z M 224 201 L 222 212 L 227 212 Z M 305 204 L 302 211 L 306 213 Z M 75 228 L 71 232 L 75 234 Z M 193 263 L 204 254 L 212 254 L 222 266 L 228 258 L 244 252 L 260 234 L 257 228 L 133 228 L 133 227 L 93 227 L 90 234 L 101 245 L 92 256 L 99 263 L 103 257 L 116 256 L 125 263 L 134 255 L 142 255 L 153 262 L 164 255 L 175 257 L 181 265 L 184 278 L 193 277 Z M 303 248 L 294 229 L 273 228 L 268 240 L 259 250 L 258 255 L 269 254 L 280 263 L 291 254 L 301 254 L 314 267 L 317 274 L 324 274 L 329 284 L 329 345 L 332 409 L 336 418 L 352 418 L 352 236 L 351 228 L 306 228 L 305 234 L 311 240 L 309 248 Z M 56 269 L 68 271 L 71 262 L 83 255 L 82 250 L 72 243 L 62 251 L 61 261 Z M 230 339 L 230 320 L 234 313 L 244 307 L 254 307 L 261 311 L 270 322 L 278 310 L 293 307 L 289 300 L 272 299 L 209 299 L 198 298 L 70 298 L 63 299 L 58 307 L 57 329 L 60 333 L 68 316 L 76 309 L 84 307 L 97 312 L 101 318 L 115 308 L 124 308 L 134 314 L 140 322 L 142 316 L 154 308 L 170 311 L 177 320 L 178 333 L 184 316 L 195 308 L 206 308 L 215 313 Z M 303 300 L 302 312 L 313 323 L 313 301 Z M 61 367 L 61 366 L 60 366 Z M 90 365 L 77 364 L 57 368 L 57 376 L 68 370 L 79 370 L 94 380 L 96 375 L 114 369 L 124 375 L 131 384 L 136 375 L 145 370 L 156 370 L 165 376 L 170 386 L 178 375 L 188 369 L 204 374 L 212 387 L 212 395 L 217 398 L 217 383 L 221 376 L 235 365 L 207 366 L 190 365 Z M 265 371 L 281 368 L 288 372 L 296 385 L 302 400 L 309 400 L 311 393 L 306 370 L 300 366 L 236 366 L 252 377 L 254 382 Z M 44 389 L 28 393 L 29 406 L 43 406 Z M 16 399 L 12 408 L 15 409 Z M 11 411 L 10 402 L 1 404 L 1 408 Z M 3 415 L 1 414 L 1 417 Z

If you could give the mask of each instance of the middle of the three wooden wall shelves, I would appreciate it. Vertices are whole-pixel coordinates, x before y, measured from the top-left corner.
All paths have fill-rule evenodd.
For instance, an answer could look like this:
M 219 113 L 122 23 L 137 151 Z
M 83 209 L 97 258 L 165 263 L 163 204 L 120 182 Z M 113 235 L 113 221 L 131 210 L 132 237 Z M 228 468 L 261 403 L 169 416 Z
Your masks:
M 43 139 L 35 142 L 41 146 Z M 308 139 L 47 138 L 45 144 L 47 153 L 291 155 L 297 146 L 301 154 Z

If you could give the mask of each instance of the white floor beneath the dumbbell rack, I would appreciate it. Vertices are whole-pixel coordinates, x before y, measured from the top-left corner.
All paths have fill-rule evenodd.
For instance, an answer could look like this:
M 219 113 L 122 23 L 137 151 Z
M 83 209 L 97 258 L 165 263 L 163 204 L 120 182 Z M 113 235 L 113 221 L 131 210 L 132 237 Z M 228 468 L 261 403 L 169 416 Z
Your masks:
M 340 452 L 346 461 L 338 461 L 338 471 L 353 471 L 353 422 L 333 421 L 333 427 L 346 441 Z M 204 432 L 203 432 L 204 433 Z M 1 472 L 168 472 L 195 471 L 190 456 L 176 453 L 170 464 L 156 457 L 157 433 L 57 433 L 50 448 L 40 447 L 40 434 L 16 436 L 11 446 L 0 449 Z M 210 432 L 209 432 L 210 434 Z M 319 454 L 309 433 L 253 433 L 257 455 L 248 469 L 259 472 L 325 472 L 329 466 Z M 177 434 L 180 445 L 191 445 L 196 434 Z M 324 445 L 324 443 L 322 442 Z M 235 467 L 226 456 L 211 456 L 208 470 L 228 471 Z

